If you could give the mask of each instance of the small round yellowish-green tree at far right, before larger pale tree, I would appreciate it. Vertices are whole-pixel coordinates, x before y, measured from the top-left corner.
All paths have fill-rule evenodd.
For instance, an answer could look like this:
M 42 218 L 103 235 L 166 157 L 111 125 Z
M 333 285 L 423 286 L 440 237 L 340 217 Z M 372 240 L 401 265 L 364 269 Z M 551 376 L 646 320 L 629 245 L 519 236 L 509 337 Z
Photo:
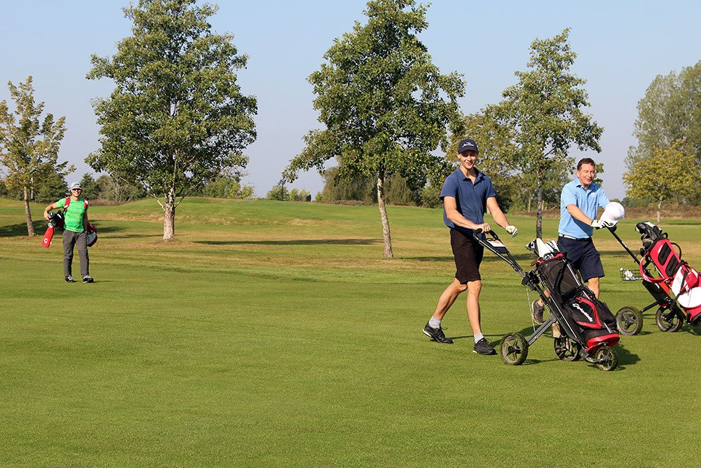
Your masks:
M 685 154 L 673 145 L 669 149 L 657 149 L 647 158 L 623 173 L 627 185 L 626 195 L 632 199 L 653 199 L 657 202 L 657 222 L 660 222 L 662 202 L 676 199 L 678 194 L 690 193 L 697 184 L 697 171 L 693 154 Z

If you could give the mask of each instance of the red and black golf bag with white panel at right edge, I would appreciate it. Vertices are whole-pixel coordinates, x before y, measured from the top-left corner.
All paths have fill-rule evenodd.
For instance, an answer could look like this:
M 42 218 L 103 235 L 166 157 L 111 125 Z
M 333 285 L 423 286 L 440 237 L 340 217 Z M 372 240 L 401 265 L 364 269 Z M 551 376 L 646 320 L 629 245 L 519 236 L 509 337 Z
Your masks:
M 646 283 L 658 285 L 660 307 L 671 309 L 691 326 L 701 324 L 701 277 L 681 258 L 681 247 L 667 239 L 667 233 L 651 222 L 639 222 L 635 229 L 641 234 L 640 276 Z M 657 274 L 653 276 L 650 267 Z M 680 310 L 681 309 L 681 310 Z M 683 311 L 683 312 L 682 312 Z M 660 323 L 658 323 L 659 325 Z

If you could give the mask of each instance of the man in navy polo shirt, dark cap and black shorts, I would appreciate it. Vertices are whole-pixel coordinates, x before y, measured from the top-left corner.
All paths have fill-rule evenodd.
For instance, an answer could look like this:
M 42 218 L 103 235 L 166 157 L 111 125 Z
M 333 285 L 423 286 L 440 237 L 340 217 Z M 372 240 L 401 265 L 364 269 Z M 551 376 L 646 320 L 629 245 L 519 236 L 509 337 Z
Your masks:
M 482 334 L 479 321 L 479 292 L 482 290 L 482 278 L 479 276 L 479 264 L 482 262 L 484 247 L 472 239 L 472 232 L 491 231 L 489 223 L 484 222 L 484 213 L 489 208 L 496 224 L 512 236 L 518 229 L 509 224 L 506 216 L 496 201 L 496 192 L 491 179 L 475 167 L 479 150 L 474 140 L 465 139 L 458 145 L 460 167 L 448 176 L 443 184 L 440 199 L 443 201 L 443 221 L 450 228 L 450 245 L 455 258 L 456 274 L 454 281 L 440 296 L 433 316 L 423 327 L 423 333 L 439 343 L 452 343 L 440 326 L 443 316 L 463 291 L 468 291 L 468 319 L 472 333 L 475 334 L 474 352 L 479 354 L 496 354 Z

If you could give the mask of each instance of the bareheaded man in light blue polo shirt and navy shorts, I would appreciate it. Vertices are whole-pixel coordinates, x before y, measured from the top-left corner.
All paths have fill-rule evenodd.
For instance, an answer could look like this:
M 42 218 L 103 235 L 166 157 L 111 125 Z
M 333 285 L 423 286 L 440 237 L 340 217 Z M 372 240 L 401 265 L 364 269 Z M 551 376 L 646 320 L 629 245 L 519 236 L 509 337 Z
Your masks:
M 582 281 L 599 297 L 599 278 L 604 276 L 601 255 L 592 241 L 594 229 L 604 226 L 597 220 L 599 206 L 610 203 L 600 185 L 594 183 L 597 176 L 594 160 L 581 159 L 577 163 L 576 180 L 562 187 L 560 194 L 560 224 L 557 228 L 557 248 L 567 256 L 574 269 L 580 272 Z M 533 321 L 543 323 L 543 300 L 531 303 Z

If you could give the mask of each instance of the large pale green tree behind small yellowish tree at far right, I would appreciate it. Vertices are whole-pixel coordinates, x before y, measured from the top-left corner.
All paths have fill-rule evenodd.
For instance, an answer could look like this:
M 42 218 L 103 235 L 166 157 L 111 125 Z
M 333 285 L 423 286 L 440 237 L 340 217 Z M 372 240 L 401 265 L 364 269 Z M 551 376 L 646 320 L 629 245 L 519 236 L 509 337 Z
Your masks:
M 695 157 L 688 171 L 701 178 L 701 61 L 685 67 L 679 74 L 658 75 L 638 102 L 638 118 L 633 135 L 638 144 L 630 147 L 626 166 L 630 172 L 644 159 L 653 157 L 660 149 L 672 149 Z M 697 184 L 687 187 L 681 196 L 692 203 L 700 203 L 701 189 Z

